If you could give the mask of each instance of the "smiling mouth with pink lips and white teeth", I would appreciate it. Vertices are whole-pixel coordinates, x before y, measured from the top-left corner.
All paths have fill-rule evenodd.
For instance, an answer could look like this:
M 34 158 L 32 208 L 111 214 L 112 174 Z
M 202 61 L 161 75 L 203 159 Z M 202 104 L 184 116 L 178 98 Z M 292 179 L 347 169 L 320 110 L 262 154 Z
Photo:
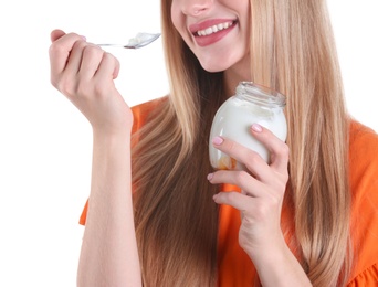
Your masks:
M 192 24 L 189 31 L 199 46 L 211 45 L 225 36 L 237 25 L 237 21 L 229 19 L 212 19 Z

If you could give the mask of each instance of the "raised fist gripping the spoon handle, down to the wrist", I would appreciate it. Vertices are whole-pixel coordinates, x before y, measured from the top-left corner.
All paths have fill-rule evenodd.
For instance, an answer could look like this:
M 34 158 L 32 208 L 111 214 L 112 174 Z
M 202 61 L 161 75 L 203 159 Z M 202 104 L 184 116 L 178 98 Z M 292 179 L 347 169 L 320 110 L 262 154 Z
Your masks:
M 119 62 L 85 38 L 61 30 L 51 33 L 51 83 L 90 120 L 95 131 L 130 131 L 133 115 L 116 89 Z

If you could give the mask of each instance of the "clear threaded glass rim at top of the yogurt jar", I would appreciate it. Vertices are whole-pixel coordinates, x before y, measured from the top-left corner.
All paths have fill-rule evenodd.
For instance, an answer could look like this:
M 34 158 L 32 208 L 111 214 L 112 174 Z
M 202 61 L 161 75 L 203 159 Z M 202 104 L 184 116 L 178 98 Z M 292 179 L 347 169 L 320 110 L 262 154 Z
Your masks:
M 243 94 L 258 99 L 264 104 L 273 104 L 284 107 L 286 105 L 286 96 L 282 93 L 256 84 L 254 82 L 243 81 L 237 86 L 237 95 Z

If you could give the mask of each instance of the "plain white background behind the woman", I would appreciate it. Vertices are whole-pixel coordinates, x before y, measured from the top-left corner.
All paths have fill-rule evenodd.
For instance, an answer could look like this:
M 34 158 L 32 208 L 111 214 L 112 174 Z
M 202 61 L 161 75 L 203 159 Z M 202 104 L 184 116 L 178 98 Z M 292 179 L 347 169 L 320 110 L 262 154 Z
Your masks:
M 378 131 L 377 0 L 329 0 L 349 110 Z M 92 135 L 50 85 L 50 31 L 91 42 L 159 32 L 158 1 L 2 1 L 0 4 L 0 286 L 75 286 Z M 112 50 L 133 106 L 167 92 L 161 41 Z M 363 151 L 361 151 L 363 152 Z

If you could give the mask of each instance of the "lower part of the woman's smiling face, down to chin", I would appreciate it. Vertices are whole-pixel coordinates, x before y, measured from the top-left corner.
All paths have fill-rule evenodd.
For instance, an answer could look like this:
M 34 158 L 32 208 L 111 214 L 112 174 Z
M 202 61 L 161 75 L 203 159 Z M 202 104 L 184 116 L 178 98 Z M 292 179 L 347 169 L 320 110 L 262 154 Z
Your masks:
M 249 0 L 172 0 L 171 18 L 183 41 L 209 72 L 248 63 Z

